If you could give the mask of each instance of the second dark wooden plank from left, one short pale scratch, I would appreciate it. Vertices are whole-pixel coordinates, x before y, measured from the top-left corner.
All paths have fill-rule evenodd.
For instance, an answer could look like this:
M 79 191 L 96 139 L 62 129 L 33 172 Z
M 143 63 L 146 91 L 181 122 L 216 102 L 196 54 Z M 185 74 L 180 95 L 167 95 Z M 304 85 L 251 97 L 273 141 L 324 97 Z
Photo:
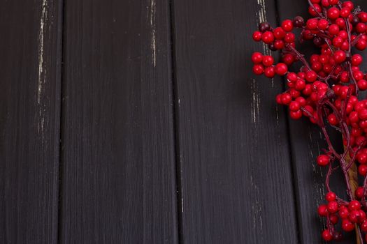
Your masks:
M 61 243 L 177 243 L 168 1 L 66 1 Z

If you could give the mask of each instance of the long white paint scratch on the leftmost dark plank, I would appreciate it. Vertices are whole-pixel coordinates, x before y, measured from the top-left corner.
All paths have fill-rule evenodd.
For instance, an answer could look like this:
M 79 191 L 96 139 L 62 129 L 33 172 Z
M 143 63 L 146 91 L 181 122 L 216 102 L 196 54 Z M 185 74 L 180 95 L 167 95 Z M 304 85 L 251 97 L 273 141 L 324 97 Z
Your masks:
M 38 121 L 38 133 L 41 130 L 42 140 L 43 137 L 43 127 L 45 124 L 45 118 L 43 114 L 43 108 L 41 106 L 41 96 L 43 92 L 43 85 L 46 82 L 46 69 L 44 63 L 44 47 L 43 43 L 45 41 L 45 25 L 48 22 L 48 0 L 42 1 L 42 12 L 41 12 L 41 21 L 40 21 L 40 30 L 38 33 L 38 115 L 40 120 Z M 50 28 L 50 26 L 49 26 Z

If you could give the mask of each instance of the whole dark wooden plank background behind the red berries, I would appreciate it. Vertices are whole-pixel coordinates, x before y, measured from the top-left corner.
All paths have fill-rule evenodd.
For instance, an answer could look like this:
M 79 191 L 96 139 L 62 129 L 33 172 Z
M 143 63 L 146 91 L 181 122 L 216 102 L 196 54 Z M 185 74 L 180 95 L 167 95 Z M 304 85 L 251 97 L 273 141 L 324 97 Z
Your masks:
M 259 22 L 306 12 L 1 1 L 0 243 L 322 243 L 324 140 L 250 63 Z

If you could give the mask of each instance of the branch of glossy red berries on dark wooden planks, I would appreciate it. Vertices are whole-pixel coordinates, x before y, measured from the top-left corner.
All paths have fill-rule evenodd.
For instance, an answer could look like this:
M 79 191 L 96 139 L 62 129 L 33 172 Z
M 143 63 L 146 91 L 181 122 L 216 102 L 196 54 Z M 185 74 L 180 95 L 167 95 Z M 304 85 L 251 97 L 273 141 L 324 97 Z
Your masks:
M 319 206 L 319 215 L 326 218 L 322 232 L 325 241 L 339 240 L 343 231 L 367 234 L 367 99 L 359 100 L 359 91 L 367 89 L 367 75 L 359 66 L 363 62 L 356 49 L 367 47 L 367 13 L 355 8 L 352 1 L 308 0 L 305 21 L 297 16 L 285 20 L 281 26 L 272 27 L 268 22 L 259 24 L 252 38 L 262 42 L 271 51 L 280 51 L 281 61 L 275 63 L 271 55 L 254 52 L 252 62 L 256 75 L 273 78 L 284 76 L 287 91 L 276 96 L 280 105 L 287 105 L 292 119 L 305 117 L 322 130 L 328 148 L 317 157 L 317 164 L 329 167 L 326 174 L 327 204 Z M 294 33 L 301 34 L 296 39 Z M 296 43 L 312 42 L 318 49 L 309 59 L 298 52 Z M 289 71 L 293 63 L 300 62 L 297 72 Z M 335 128 L 343 136 L 345 151 L 338 153 L 331 143 L 329 129 Z M 363 184 L 352 189 L 350 171 L 358 166 Z M 331 174 L 341 169 L 345 177 L 347 200 L 332 192 L 329 185 Z M 336 224 L 341 221 L 342 230 Z M 357 227 L 357 228 L 356 228 Z M 367 235 L 366 235 L 367 241 Z

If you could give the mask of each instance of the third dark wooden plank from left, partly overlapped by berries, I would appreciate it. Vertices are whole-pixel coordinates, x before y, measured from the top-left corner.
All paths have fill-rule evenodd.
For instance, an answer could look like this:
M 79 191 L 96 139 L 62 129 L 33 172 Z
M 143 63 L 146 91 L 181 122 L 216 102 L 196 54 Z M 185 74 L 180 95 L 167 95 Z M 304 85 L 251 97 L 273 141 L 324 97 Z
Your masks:
M 297 243 L 282 82 L 251 75 L 273 1 L 175 1 L 183 243 Z

